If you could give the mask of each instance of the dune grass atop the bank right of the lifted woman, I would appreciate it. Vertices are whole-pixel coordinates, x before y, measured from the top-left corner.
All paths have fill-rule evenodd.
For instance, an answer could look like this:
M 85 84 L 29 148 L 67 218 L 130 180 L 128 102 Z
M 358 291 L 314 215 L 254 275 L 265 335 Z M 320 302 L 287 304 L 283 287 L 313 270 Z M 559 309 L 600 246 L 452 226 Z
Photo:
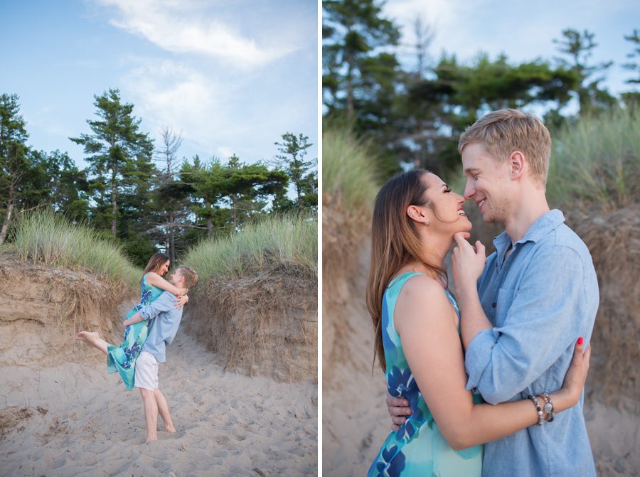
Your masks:
M 201 282 L 283 269 L 313 279 L 318 272 L 318 220 L 314 215 L 268 215 L 232 235 L 204 240 L 179 262 L 194 267 Z

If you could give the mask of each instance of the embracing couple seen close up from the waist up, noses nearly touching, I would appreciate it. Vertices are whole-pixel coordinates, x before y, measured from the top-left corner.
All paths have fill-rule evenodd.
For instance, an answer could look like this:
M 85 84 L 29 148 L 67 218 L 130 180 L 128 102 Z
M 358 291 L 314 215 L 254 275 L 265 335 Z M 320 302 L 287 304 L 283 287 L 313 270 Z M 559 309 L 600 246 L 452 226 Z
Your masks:
M 458 149 L 464 197 L 414 170 L 375 200 L 367 305 L 394 425 L 368 475 L 594 476 L 582 389 L 598 284 L 545 198 L 550 134 L 503 109 Z M 466 199 L 505 227 L 489 257 L 465 240 Z

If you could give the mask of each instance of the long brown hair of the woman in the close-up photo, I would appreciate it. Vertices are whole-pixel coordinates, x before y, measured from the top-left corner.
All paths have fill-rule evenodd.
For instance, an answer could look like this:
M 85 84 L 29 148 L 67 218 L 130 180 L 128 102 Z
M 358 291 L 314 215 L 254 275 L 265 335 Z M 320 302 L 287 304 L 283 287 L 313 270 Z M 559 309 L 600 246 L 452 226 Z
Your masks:
M 367 282 L 367 309 L 375 328 L 374 364 L 386 370 L 382 340 L 382 301 L 385 289 L 407 263 L 418 261 L 446 283 L 447 272 L 428 264 L 422 257 L 422 242 L 414 220 L 407 215 L 410 205 L 428 206 L 425 169 L 414 169 L 390 178 L 375 197 L 371 227 L 371 262 Z

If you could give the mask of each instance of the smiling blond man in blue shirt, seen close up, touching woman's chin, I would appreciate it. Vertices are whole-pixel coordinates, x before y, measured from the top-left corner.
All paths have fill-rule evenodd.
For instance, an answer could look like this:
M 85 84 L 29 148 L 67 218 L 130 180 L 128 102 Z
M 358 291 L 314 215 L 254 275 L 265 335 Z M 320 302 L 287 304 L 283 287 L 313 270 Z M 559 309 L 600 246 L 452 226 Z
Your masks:
M 459 141 L 465 198 L 505 226 L 488 259 L 462 235 L 452 256 L 466 388 L 492 404 L 560 389 L 576 339 L 592 334 L 597 279 L 585 244 L 548 207 L 550 149 L 542 122 L 513 109 L 487 114 Z M 401 414 L 401 402 L 388 404 Z M 485 444 L 483 476 L 595 476 L 582 400 L 542 424 Z

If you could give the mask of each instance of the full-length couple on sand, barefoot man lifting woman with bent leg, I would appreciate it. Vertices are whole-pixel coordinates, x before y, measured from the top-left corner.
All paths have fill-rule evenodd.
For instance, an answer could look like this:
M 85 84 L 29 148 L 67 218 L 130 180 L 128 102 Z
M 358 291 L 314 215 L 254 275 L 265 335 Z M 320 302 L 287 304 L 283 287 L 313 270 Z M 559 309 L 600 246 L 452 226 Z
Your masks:
M 144 404 L 146 442 L 158 439 L 158 414 L 166 432 L 176 432 L 169 406 L 158 387 L 158 363 L 166 361 L 165 349 L 170 345 L 182 318 L 182 307 L 188 301 L 188 289 L 198 282 L 196 271 L 180 265 L 169 281 L 171 260 L 164 253 L 151 256 L 140 281 L 140 303 L 124 320 L 124 339 L 119 346 L 107 343 L 98 333 L 80 331 L 75 338 L 85 341 L 107 355 L 107 372 L 119 373 L 127 390 L 137 387 Z

